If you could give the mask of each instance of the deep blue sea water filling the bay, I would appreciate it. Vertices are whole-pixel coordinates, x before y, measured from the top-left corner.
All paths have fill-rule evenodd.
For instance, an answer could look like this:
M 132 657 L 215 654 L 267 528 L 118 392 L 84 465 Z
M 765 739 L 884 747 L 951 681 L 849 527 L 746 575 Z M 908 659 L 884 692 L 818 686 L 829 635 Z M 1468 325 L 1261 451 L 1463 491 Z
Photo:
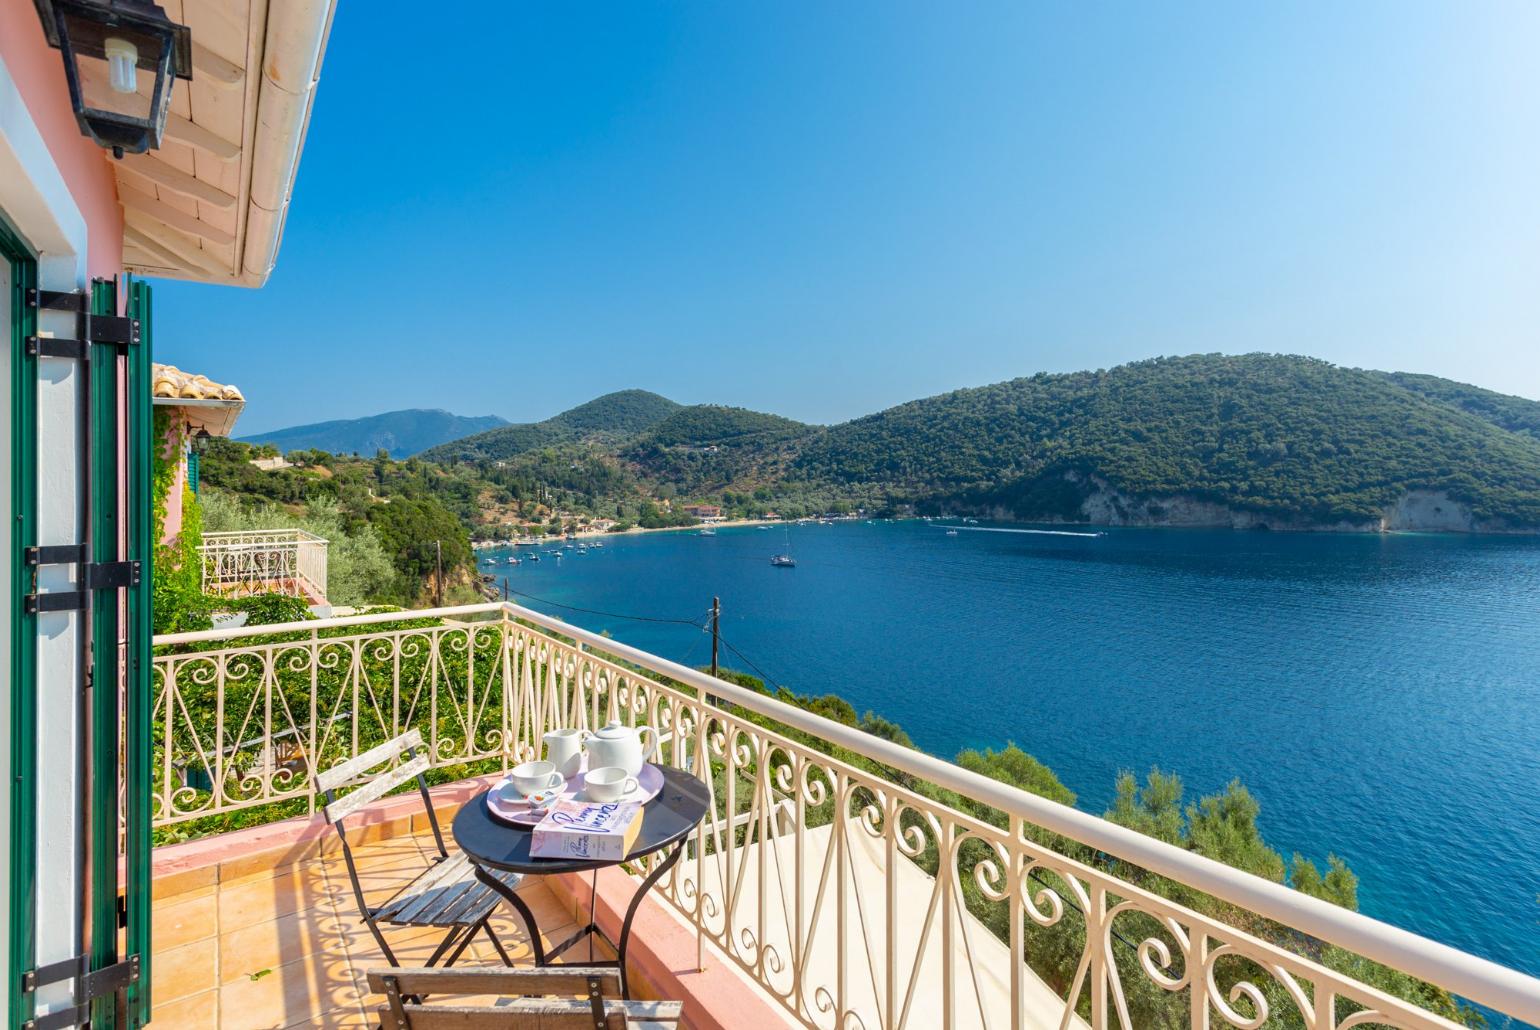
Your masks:
M 775 682 L 941 756 L 1013 741 L 1087 811 L 1120 770 L 1189 799 L 1240 779 L 1284 856 L 1348 861 L 1363 911 L 1540 975 L 1540 540 L 847 522 L 482 568 L 693 665 L 696 628 L 556 604 L 698 619 L 721 596 L 722 637 Z

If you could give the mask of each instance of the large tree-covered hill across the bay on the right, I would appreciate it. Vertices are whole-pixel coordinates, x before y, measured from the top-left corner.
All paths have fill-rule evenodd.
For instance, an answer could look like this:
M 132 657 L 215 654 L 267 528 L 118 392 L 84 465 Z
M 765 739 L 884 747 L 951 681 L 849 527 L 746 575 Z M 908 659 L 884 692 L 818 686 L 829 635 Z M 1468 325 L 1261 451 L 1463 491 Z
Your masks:
M 1038 374 L 829 430 L 795 470 L 850 488 L 1083 517 L 1098 480 L 1291 523 L 1371 523 L 1409 491 L 1486 528 L 1540 527 L 1540 442 L 1383 374 L 1309 357 L 1200 354 Z

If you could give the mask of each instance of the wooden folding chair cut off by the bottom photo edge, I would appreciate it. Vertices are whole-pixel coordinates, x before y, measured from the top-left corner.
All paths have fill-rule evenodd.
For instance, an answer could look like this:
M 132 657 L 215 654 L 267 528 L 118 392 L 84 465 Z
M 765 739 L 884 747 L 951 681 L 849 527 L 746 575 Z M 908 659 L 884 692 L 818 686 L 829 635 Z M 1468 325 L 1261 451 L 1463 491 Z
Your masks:
M 382 1030 L 665 1030 L 678 1001 L 619 1001 L 621 973 L 588 965 L 505 968 L 377 968 L 370 990 L 385 995 Z M 431 995 L 496 1001 L 424 1004 Z

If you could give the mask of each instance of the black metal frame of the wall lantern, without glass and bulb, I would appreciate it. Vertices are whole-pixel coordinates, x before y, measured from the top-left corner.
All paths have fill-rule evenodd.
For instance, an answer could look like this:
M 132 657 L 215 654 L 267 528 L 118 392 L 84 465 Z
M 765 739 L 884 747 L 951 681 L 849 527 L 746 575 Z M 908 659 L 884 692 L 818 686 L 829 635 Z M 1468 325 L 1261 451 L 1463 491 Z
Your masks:
M 69 105 L 80 131 L 99 145 L 123 154 L 143 154 L 160 146 L 166 128 L 171 86 L 192 79 L 192 32 L 177 25 L 149 0 L 34 0 L 48 45 L 65 59 Z M 82 85 L 80 59 L 109 60 L 108 42 L 128 42 L 134 49 L 131 74 L 154 71 L 154 88 L 145 114 L 92 106 Z M 140 95 L 132 91 L 125 95 Z M 142 106 L 142 102 L 140 102 Z

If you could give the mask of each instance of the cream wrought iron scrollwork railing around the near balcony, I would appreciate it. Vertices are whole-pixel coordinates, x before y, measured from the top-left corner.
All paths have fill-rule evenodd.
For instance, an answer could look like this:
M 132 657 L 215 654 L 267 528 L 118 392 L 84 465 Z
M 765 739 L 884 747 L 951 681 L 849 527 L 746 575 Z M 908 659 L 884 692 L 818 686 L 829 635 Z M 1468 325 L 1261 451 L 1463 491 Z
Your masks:
M 1369 964 L 1540 1024 L 1535 978 L 516 605 L 156 644 L 160 827 L 410 727 L 445 776 L 656 727 L 715 802 L 662 898 L 810 1027 L 1457 1025 Z

